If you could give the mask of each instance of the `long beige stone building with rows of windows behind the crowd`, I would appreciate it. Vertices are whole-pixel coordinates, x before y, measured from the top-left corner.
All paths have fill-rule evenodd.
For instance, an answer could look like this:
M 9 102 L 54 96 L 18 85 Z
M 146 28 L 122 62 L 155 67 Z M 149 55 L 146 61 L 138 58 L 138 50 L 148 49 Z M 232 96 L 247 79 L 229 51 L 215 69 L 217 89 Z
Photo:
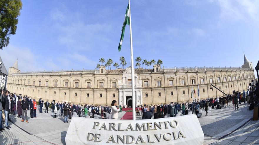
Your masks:
M 215 98 L 223 93 L 210 89 L 213 84 L 224 93 L 247 90 L 255 79 L 252 63 L 245 57 L 240 67 L 171 67 L 135 69 L 135 100 L 138 104 L 184 102 L 191 98 L 192 88 L 200 99 Z M 20 72 L 17 61 L 9 69 L 7 89 L 10 92 L 64 103 L 132 105 L 131 68 L 106 70 L 67 70 Z

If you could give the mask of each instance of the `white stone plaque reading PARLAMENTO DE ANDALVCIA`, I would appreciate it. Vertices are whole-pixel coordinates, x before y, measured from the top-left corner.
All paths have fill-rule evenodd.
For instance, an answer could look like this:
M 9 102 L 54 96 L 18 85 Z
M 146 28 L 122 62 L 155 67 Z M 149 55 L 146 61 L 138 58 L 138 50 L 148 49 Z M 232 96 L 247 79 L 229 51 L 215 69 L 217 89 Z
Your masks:
M 204 134 L 196 115 L 150 120 L 104 120 L 73 117 L 67 145 L 163 144 L 202 145 Z

